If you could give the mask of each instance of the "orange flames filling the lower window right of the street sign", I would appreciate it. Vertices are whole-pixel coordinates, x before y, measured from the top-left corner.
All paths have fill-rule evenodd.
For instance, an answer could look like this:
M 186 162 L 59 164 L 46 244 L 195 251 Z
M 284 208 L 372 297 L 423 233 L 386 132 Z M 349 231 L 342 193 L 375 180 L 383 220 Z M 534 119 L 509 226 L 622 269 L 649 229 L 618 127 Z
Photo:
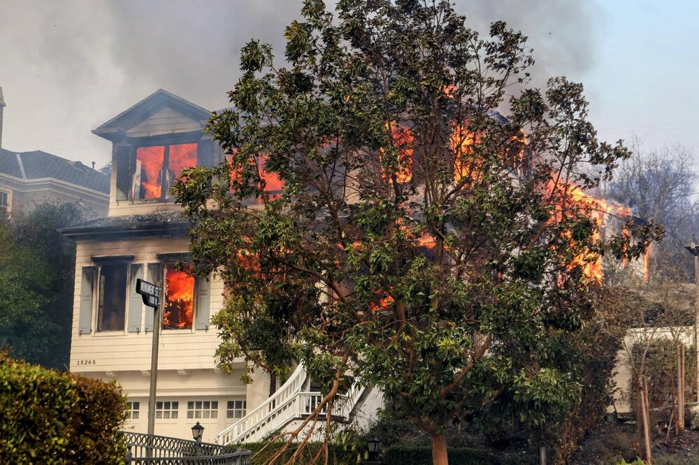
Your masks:
M 188 330 L 192 328 L 194 315 L 194 276 L 175 269 L 175 264 L 165 267 L 165 309 L 163 329 Z

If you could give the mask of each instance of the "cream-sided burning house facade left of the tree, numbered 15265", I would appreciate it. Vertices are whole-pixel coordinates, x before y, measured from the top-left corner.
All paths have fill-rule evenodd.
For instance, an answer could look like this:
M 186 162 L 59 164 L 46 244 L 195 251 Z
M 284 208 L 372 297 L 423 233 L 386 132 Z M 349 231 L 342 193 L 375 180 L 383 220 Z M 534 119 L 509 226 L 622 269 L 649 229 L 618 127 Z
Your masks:
M 109 212 L 63 231 L 77 242 L 70 369 L 122 385 L 126 427 L 145 433 L 153 311 L 135 293 L 136 279 L 165 283 L 155 434 L 191 438 L 199 421 L 204 441 L 216 441 L 229 427 L 221 441 L 250 441 L 293 425 L 319 393 L 308 392 L 302 369 L 270 399 L 264 372 L 256 371 L 251 385 L 241 383 L 242 359 L 231 374 L 219 370 L 219 339 L 209 322 L 222 307 L 223 283 L 175 270 L 175 261 L 188 257 L 189 223 L 168 191 L 182 168 L 222 161 L 222 151 L 202 132 L 210 113 L 159 90 L 93 131 L 113 142 Z M 346 416 L 354 418 L 354 404 L 367 394 L 348 394 Z

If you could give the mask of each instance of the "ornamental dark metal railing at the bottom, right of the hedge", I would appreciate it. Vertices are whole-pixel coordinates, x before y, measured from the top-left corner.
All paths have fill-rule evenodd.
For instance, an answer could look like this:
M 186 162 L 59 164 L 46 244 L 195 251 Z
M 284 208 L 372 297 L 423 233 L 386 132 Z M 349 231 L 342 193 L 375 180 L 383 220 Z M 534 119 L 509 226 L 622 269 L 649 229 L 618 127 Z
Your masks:
M 230 445 L 124 431 L 127 465 L 252 465 L 252 452 Z

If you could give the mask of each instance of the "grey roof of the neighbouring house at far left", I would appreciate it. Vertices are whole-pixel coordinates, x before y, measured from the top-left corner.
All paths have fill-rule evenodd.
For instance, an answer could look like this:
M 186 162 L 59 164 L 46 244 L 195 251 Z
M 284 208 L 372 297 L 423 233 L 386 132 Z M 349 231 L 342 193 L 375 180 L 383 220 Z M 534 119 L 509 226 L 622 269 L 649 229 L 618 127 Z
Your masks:
M 107 175 L 80 161 L 66 160 L 41 150 L 10 152 L 0 149 L 0 172 L 20 179 L 58 179 L 93 191 L 109 193 Z

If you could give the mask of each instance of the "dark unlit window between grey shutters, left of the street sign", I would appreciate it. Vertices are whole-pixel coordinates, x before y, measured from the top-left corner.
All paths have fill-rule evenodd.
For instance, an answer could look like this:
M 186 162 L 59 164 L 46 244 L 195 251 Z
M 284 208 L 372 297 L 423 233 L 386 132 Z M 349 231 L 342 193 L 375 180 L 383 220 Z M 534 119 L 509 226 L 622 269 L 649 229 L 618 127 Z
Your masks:
M 127 265 L 99 268 L 97 331 L 123 331 L 127 299 Z

